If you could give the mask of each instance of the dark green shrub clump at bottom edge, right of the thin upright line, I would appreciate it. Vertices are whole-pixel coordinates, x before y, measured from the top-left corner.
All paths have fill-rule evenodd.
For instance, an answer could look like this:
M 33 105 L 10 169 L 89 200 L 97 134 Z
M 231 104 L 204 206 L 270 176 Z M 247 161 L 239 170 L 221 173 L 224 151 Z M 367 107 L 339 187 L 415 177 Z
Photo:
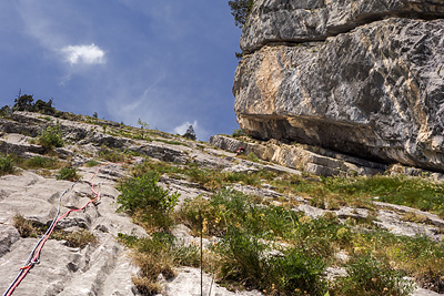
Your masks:
M 214 251 L 221 257 L 219 276 L 270 295 L 324 296 L 325 263 L 299 248 L 278 248 L 251 232 L 230 227 Z

